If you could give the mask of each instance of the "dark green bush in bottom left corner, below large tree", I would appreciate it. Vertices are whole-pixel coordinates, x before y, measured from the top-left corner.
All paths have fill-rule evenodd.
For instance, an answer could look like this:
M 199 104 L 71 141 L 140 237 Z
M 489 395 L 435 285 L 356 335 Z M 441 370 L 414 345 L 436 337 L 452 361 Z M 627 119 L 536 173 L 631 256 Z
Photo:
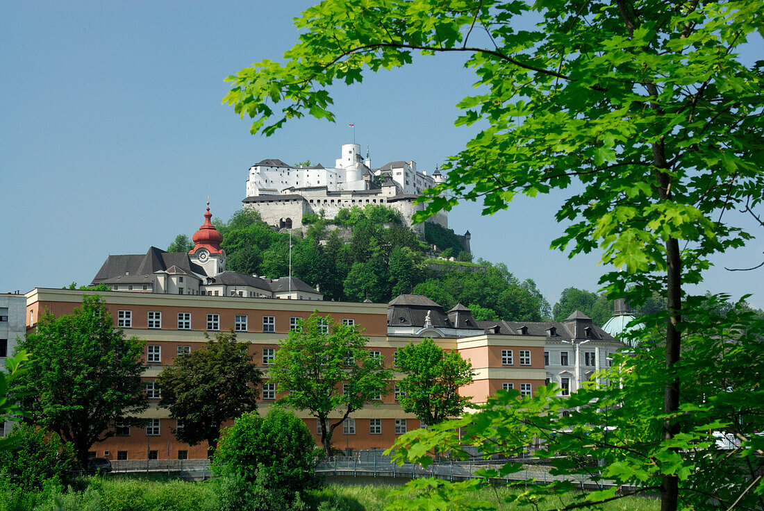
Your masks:
M 72 445 L 55 433 L 22 424 L 8 440 L 10 448 L 0 451 L 0 479 L 8 484 L 8 490 L 55 488 L 79 468 Z

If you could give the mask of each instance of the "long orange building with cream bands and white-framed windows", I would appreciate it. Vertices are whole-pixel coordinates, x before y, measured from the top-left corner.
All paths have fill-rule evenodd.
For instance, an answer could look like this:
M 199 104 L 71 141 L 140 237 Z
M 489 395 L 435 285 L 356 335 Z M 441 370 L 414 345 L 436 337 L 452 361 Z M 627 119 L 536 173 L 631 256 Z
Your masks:
M 424 337 L 434 337 L 443 348 L 459 351 L 471 360 L 477 372 L 474 382 L 464 389 L 475 403 L 484 402 L 501 388 L 533 393 L 544 384 L 545 338 L 486 333 L 488 330 L 478 325 L 474 325 L 474 332 L 469 328 L 446 332 L 453 334 L 448 337 L 443 336 L 443 329 L 437 335 L 432 335 L 435 333 L 432 328 L 432 332 L 422 328 L 401 332 L 400 325 L 397 328 L 389 325 L 389 310 L 396 309 L 387 304 L 119 291 L 100 294 L 112 313 L 115 326 L 124 328 L 126 335 L 146 341 L 144 380 L 152 403 L 142 415 L 147 419 L 145 428 L 116 425 L 115 436 L 93 445 L 94 455 L 112 460 L 206 458 L 206 445 L 184 445 L 171 434 L 170 429 L 178 424 L 167 410 L 158 406 L 160 396 L 154 389 L 154 379 L 163 367 L 173 363 L 177 354 L 200 348 L 206 341 L 206 332 L 214 334 L 233 328 L 238 340 L 250 345 L 255 363 L 264 370 L 258 406 L 258 411 L 264 413 L 280 396 L 278 389 L 267 380 L 270 357 L 296 319 L 307 318 L 314 310 L 321 315 L 331 315 L 337 322 L 347 321 L 363 328 L 368 338 L 367 348 L 380 351 L 386 364 L 393 364 L 395 352 L 405 344 Z M 82 303 L 82 295 L 82 291 L 70 289 L 33 289 L 26 295 L 27 328 L 34 328 L 40 315 L 46 312 L 57 316 L 72 312 Z M 465 336 L 472 333 L 474 335 Z M 400 377 L 396 374 L 393 379 Z M 390 388 L 391 392 L 375 403 L 377 406 L 366 406 L 352 413 L 345 426 L 335 430 L 333 441 L 337 448 L 388 448 L 398 435 L 419 428 L 419 420 L 398 406 L 394 382 Z M 309 412 L 298 412 L 298 415 L 305 420 L 318 445 L 316 419 Z M 337 413 L 332 418 L 340 416 Z

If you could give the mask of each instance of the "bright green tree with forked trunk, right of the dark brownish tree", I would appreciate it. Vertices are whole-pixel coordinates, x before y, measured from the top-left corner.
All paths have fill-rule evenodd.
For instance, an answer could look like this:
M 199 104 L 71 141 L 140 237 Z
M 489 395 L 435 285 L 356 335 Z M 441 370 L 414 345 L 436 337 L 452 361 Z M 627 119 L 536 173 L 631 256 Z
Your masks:
M 309 410 L 318 419 L 326 454 L 332 452 L 334 430 L 388 391 L 392 371 L 371 356 L 366 341 L 357 328 L 314 312 L 279 343 L 268 371 L 268 379 L 286 393 L 279 403 Z M 340 418 L 329 419 L 333 412 Z

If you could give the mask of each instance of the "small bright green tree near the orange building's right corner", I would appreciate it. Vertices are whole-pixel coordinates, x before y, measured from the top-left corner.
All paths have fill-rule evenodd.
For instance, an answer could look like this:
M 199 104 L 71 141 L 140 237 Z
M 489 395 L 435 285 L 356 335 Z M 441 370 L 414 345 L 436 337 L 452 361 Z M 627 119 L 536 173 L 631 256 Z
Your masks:
M 461 416 L 471 396 L 462 396 L 459 388 L 472 383 L 475 372 L 457 351 L 445 351 L 425 338 L 399 350 L 396 364 L 406 375 L 398 382 L 403 411 L 428 426 Z

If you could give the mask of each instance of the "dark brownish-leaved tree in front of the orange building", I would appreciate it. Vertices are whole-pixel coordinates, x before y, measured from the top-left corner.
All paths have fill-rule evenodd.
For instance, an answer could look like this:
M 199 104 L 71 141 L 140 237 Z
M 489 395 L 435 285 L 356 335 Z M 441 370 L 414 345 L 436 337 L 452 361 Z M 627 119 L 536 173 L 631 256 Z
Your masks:
M 225 421 L 257 409 L 261 370 L 248 347 L 235 333 L 219 332 L 207 337 L 204 348 L 177 355 L 173 365 L 162 370 L 157 377 L 160 406 L 183 421 L 183 428 L 173 429 L 179 441 L 206 441 L 214 449 Z

